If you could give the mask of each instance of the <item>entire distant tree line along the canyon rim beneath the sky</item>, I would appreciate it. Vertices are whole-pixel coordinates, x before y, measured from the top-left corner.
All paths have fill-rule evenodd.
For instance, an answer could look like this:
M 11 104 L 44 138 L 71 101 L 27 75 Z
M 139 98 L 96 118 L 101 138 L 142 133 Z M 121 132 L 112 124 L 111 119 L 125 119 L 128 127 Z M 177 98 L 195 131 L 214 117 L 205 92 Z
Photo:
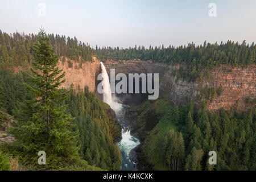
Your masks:
M 159 46 L 145 48 L 135 46 L 133 48 L 119 47 L 97 47 L 91 48 L 88 44 L 82 43 L 77 38 L 66 38 L 62 35 L 48 34 L 49 41 L 55 53 L 67 59 L 93 61 L 92 56 L 96 55 L 101 61 L 112 60 L 152 60 L 167 64 L 181 64 L 173 74 L 178 78 L 185 78 L 194 81 L 196 78 L 203 78 L 206 71 L 220 64 L 255 64 L 255 44 L 247 44 L 245 40 L 240 44 L 229 40 L 220 44 L 204 42 L 203 45 L 196 46 L 193 42 L 187 46 Z M 32 61 L 31 46 L 38 39 L 38 35 L 25 35 L 15 32 L 7 34 L 0 30 L 0 68 L 12 69 L 13 66 L 26 67 Z M 71 67 L 71 64 L 69 64 Z

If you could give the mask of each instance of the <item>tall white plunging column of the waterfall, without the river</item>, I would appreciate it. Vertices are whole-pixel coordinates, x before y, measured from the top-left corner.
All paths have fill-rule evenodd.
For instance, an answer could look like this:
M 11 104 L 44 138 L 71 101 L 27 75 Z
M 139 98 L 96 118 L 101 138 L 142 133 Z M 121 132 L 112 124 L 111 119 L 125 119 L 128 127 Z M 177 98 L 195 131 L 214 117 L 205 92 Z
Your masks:
M 101 73 L 102 73 L 103 102 L 106 102 L 106 104 L 109 104 L 111 106 L 112 94 L 110 89 L 109 76 L 102 62 L 101 62 Z

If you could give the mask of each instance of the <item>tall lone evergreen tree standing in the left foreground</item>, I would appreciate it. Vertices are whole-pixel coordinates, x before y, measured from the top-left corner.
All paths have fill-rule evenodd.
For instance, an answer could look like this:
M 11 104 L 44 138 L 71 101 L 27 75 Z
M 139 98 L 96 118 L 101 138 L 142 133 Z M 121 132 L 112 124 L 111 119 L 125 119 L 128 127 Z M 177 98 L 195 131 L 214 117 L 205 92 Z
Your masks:
M 66 159 L 78 156 L 77 133 L 72 131 L 73 118 L 65 114 L 67 91 L 59 89 L 65 73 L 56 67 L 58 57 L 49 44 L 44 30 L 33 47 L 34 62 L 31 74 L 24 73 L 30 84 L 25 84 L 36 98 L 31 120 L 14 127 L 17 142 L 28 152 L 46 151 Z

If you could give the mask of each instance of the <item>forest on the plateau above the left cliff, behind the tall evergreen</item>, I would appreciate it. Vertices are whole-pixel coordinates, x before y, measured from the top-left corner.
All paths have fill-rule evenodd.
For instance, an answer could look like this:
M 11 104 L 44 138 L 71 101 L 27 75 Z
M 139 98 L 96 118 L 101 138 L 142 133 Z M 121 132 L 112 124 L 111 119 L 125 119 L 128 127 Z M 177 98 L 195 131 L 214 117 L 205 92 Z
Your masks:
M 75 38 L 65 35 L 48 34 L 49 42 L 59 56 L 77 61 L 92 61 L 93 50 L 89 44 L 81 43 Z M 7 34 L 0 30 L 0 68 L 26 66 L 32 61 L 31 46 L 38 40 L 35 34 Z

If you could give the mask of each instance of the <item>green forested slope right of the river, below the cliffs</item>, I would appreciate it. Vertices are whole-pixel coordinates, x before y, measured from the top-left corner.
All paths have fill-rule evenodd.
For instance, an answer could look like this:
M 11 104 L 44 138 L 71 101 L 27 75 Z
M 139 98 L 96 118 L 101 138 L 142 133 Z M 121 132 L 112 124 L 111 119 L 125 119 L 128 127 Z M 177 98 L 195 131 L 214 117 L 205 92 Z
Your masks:
M 197 108 L 196 108 L 197 107 Z M 146 101 L 133 108 L 141 113 L 135 130 L 142 138 L 137 155 L 144 169 L 255 170 L 256 110 L 213 113 L 205 105 L 174 106 Z M 155 118 L 154 122 L 151 122 Z M 216 151 L 217 165 L 209 165 Z

